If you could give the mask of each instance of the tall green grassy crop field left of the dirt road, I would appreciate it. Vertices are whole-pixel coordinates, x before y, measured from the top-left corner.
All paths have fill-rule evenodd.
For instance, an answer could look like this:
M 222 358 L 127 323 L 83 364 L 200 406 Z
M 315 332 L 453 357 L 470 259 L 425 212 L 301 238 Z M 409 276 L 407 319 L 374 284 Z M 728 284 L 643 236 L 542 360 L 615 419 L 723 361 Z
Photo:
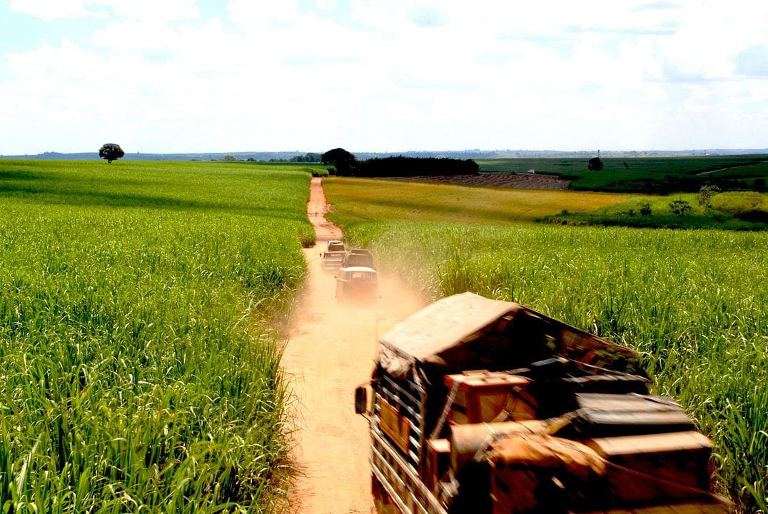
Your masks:
M 270 512 L 309 180 L 0 160 L 4 512 Z

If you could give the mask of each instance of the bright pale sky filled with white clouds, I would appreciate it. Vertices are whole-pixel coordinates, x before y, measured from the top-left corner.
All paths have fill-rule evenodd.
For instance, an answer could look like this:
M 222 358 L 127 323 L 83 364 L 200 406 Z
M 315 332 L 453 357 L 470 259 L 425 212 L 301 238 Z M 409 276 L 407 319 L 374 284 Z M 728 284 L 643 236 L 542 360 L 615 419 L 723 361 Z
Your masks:
M 0 154 L 768 148 L 768 2 L 0 0 Z

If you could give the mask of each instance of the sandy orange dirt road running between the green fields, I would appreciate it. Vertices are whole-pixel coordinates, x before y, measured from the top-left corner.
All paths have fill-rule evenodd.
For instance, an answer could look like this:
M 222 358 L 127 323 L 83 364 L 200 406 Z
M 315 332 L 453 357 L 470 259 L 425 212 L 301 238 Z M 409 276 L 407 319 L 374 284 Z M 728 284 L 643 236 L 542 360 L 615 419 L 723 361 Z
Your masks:
M 317 245 L 304 250 L 310 275 L 283 352 L 283 370 L 296 396 L 294 457 L 300 467 L 292 491 L 300 514 L 371 511 L 368 424 L 354 411 L 354 391 L 369 379 L 379 334 L 423 306 L 394 277 L 379 277 L 382 299 L 342 307 L 333 274 L 319 254 L 341 230 L 326 221 L 326 201 L 313 178 L 307 214 Z

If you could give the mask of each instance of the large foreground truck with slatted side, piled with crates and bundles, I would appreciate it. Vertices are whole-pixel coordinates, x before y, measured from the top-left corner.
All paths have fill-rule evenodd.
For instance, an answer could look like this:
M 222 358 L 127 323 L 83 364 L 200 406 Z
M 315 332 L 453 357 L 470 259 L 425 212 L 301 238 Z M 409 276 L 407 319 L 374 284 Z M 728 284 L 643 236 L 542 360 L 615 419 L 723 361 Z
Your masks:
M 634 350 L 518 303 L 432 303 L 355 391 L 376 512 L 731 512 L 710 439 L 649 387 Z

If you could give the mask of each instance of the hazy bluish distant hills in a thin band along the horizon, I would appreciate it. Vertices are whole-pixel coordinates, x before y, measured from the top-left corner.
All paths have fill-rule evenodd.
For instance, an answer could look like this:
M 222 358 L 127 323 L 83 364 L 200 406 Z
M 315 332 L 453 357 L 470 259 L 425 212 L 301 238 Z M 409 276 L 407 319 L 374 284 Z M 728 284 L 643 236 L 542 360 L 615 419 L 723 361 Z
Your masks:
M 303 151 L 240 151 L 240 152 L 205 152 L 189 154 L 141 154 L 126 153 L 124 161 L 223 161 L 227 155 L 238 161 L 290 161 L 291 158 L 306 155 Z M 316 152 L 323 154 L 323 151 Z M 514 158 L 588 158 L 596 155 L 594 151 L 558 151 L 558 150 L 448 150 L 448 151 L 401 151 L 401 152 L 365 152 L 352 151 L 355 157 L 362 161 L 371 158 L 387 157 L 419 157 L 419 158 L 453 158 L 453 159 L 514 159 Z M 674 157 L 688 155 L 745 155 L 768 154 L 768 148 L 760 149 L 729 149 L 713 148 L 708 150 L 640 150 L 640 151 L 611 151 L 601 150 L 604 158 L 635 158 L 635 157 Z M 46 151 L 42 154 L 31 155 L 0 155 L 7 159 L 59 159 L 91 161 L 97 160 L 98 152 L 78 152 L 65 154 L 57 151 Z

